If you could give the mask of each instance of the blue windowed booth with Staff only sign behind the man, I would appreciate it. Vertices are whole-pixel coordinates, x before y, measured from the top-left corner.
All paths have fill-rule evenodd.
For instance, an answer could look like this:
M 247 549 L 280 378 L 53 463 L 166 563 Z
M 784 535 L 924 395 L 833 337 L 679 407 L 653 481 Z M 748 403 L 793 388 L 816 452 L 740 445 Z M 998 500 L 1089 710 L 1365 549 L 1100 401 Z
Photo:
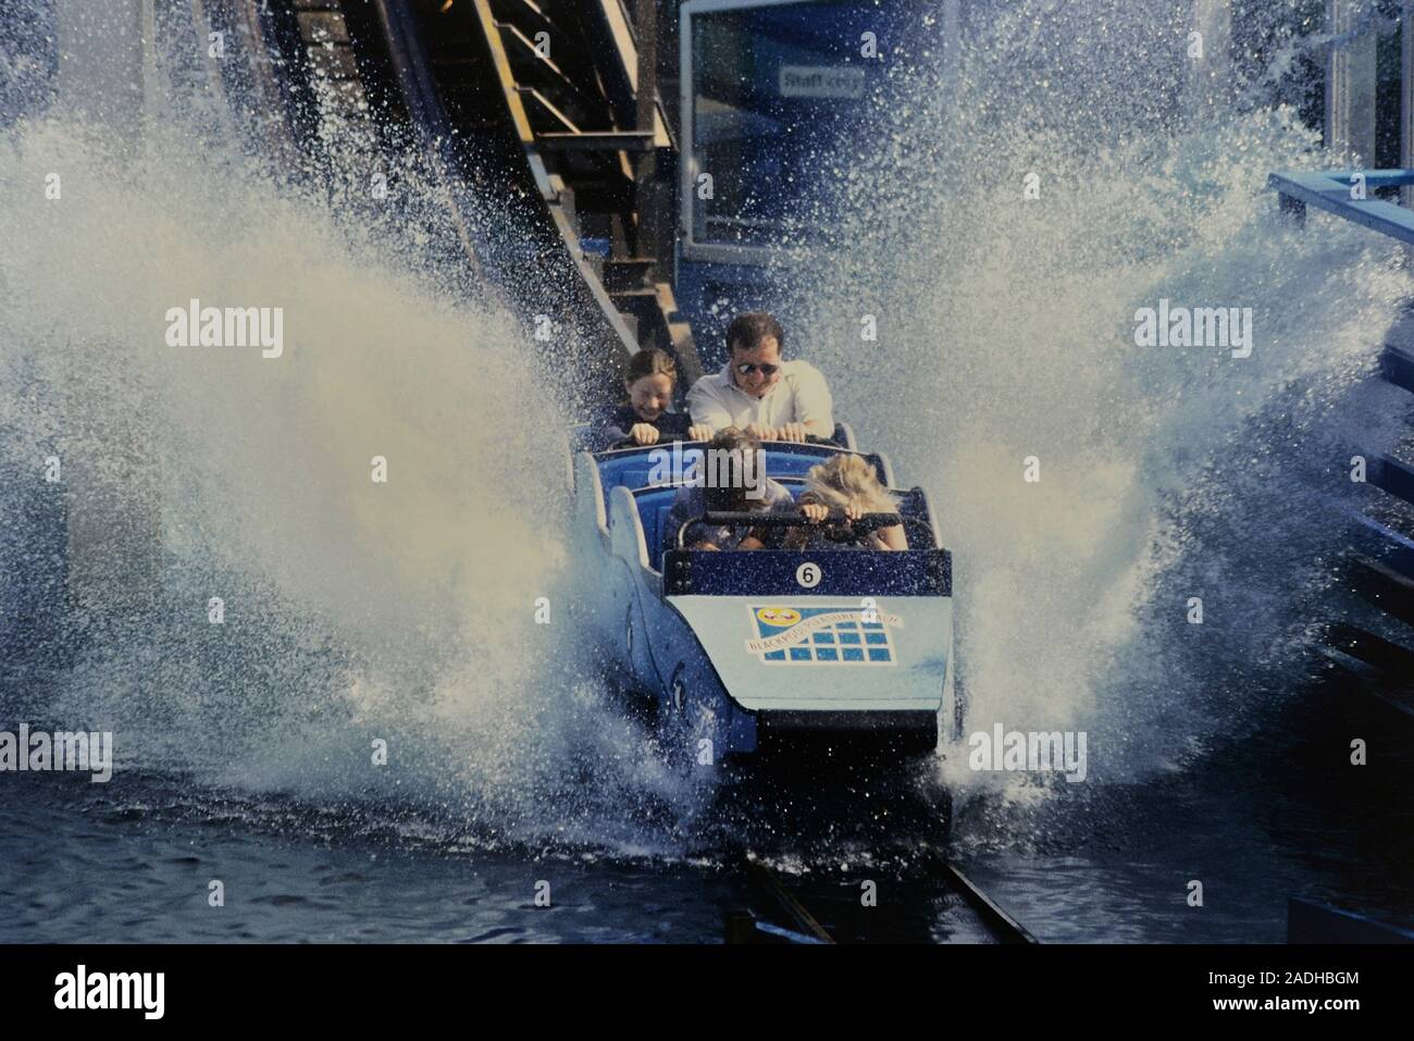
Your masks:
M 957 0 L 687 0 L 680 10 L 674 291 L 704 369 L 731 317 L 773 311 L 788 332 L 805 250 L 830 248 L 844 182 L 877 147 L 889 62 Z

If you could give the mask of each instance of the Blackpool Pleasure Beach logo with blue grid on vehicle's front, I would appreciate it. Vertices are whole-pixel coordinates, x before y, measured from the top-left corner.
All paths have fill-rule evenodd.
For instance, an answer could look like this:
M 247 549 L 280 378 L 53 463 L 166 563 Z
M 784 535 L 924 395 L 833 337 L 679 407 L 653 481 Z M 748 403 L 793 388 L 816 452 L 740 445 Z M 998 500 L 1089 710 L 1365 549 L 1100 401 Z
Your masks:
M 894 665 L 892 629 L 904 620 L 850 607 L 748 607 L 754 638 L 747 653 L 768 665 Z

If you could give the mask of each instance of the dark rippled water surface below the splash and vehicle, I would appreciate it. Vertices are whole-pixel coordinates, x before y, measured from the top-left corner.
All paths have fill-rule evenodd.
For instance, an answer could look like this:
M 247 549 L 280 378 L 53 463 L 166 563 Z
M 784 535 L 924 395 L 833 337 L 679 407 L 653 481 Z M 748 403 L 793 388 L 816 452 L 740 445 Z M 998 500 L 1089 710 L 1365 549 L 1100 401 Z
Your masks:
M 1350 735 L 1369 735 L 1370 765 L 1349 765 Z M 1294 895 L 1414 925 L 1407 738 L 1391 710 L 1321 692 L 1169 777 L 1062 784 L 1031 805 L 964 802 L 953 853 L 1051 942 L 1282 942 Z M 426 813 L 154 775 L 96 785 L 4 774 L 0 941 L 713 943 L 723 915 L 748 901 L 725 849 L 738 844 L 793 877 L 822 914 L 877 881 L 870 939 L 986 939 L 913 856 L 926 834 L 901 822 L 833 837 L 830 812 L 817 803 L 782 825 L 737 803 L 704 822 L 697 853 L 625 856 L 502 846 Z M 212 880 L 223 907 L 208 905 Z M 1202 907 L 1186 902 L 1191 880 L 1203 883 Z M 540 881 L 549 908 L 534 904 Z

